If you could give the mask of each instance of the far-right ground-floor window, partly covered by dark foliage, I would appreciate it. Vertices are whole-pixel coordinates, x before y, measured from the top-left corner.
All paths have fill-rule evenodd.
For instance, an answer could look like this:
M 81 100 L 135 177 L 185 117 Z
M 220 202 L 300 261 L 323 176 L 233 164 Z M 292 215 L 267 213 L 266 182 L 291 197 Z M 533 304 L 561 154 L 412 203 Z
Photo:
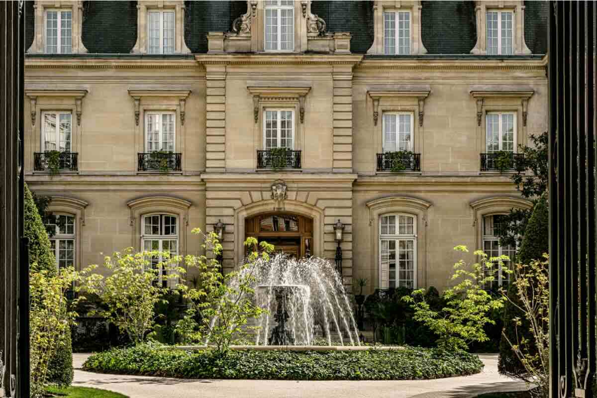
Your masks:
M 515 246 L 501 246 L 500 235 L 501 231 L 506 227 L 506 220 L 503 215 L 488 215 L 483 218 L 483 251 L 491 257 L 500 257 L 501 255 L 507 255 L 510 261 L 513 261 L 516 256 Z M 503 261 L 503 267 L 510 267 L 510 261 Z M 491 281 L 490 286 L 486 286 L 489 289 L 498 288 L 504 286 L 507 288 L 510 276 L 507 272 L 502 269 L 502 266 L 496 261 L 494 265 L 489 268 L 485 268 L 485 276 L 490 274 L 490 271 L 494 274 L 494 280 Z M 497 275 L 496 275 L 497 268 Z

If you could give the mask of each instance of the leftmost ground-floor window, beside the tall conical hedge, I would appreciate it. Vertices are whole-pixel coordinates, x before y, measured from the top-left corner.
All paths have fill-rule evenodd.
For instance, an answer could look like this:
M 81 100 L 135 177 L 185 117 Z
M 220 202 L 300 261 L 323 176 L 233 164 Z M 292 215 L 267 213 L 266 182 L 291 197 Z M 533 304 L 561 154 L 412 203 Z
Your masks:
M 53 233 L 50 247 L 56 258 L 56 267 L 75 266 L 75 217 L 66 214 L 54 214 L 46 224 L 48 232 Z

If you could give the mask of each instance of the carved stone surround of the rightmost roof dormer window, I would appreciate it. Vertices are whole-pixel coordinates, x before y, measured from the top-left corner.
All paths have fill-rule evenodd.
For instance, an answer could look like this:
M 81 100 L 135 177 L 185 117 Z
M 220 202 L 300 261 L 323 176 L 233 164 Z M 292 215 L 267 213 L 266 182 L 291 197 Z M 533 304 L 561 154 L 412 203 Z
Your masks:
M 522 0 L 484 0 L 476 1 L 475 17 L 477 25 L 477 42 L 470 50 L 471 54 L 487 54 L 487 10 L 512 10 L 514 19 L 514 54 L 531 54 L 524 38 L 524 1 Z

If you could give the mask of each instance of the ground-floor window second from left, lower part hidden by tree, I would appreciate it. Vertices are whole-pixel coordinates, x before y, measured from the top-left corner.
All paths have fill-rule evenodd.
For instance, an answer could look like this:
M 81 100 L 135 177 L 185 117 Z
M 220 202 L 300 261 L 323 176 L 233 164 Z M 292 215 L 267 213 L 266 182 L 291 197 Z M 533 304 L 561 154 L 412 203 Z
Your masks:
M 179 252 L 177 217 L 168 214 L 143 216 L 141 246 L 144 251 L 169 252 L 170 257 L 177 255 Z M 165 261 L 161 255 L 152 258 L 152 267 L 158 269 L 161 261 Z M 159 268 L 158 283 L 164 288 L 168 287 L 168 279 L 165 276 L 165 270 Z

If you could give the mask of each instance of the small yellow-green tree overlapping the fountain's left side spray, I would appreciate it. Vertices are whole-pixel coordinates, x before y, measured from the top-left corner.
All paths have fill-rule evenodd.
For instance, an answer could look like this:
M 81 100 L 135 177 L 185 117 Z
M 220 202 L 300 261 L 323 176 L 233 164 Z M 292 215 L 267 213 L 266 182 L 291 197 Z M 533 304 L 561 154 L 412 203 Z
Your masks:
M 201 234 L 194 229 L 193 233 Z M 217 257 L 221 245 L 215 233 L 204 236 L 205 248 L 211 248 Z M 249 249 L 257 247 L 257 240 L 249 237 L 245 241 Z M 240 269 L 223 275 L 221 264 L 205 256 L 187 256 L 186 264 L 199 271 L 193 286 L 184 286 L 184 297 L 190 307 L 184 319 L 177 324 L 177 331 L 189 342 L 204 342 L 216 347 L 216 353 L 223 356 L 230 344 L 245 337 L 255 329 L 247 326 L 248 320 L 261 316 L 264 310 L 253 304 L 254 271 L 257 260 L 269 259 L 273 246 L 260 243 L 261 252 L 251 252 Z

